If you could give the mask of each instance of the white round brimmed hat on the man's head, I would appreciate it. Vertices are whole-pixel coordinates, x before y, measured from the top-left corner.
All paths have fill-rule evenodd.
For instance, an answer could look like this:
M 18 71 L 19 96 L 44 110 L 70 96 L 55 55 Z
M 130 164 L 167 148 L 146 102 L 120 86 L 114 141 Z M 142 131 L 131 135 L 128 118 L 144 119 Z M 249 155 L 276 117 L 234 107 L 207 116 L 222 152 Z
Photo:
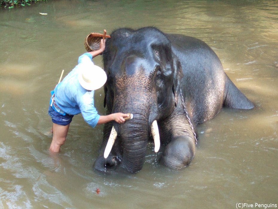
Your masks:
M 99 66 L 85 65 L 78 73 L 78 81 L 86 90 L 96 90 L 102 87 L 107 80 L 106 73 Z

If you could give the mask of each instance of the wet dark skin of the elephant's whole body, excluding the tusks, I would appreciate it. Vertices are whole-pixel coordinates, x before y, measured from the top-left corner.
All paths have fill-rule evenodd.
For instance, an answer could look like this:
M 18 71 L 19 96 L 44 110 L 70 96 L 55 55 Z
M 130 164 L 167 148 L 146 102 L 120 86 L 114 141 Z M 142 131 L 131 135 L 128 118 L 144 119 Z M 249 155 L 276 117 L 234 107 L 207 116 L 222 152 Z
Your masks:
M 109 171 L 118 166 L 129 172 L 142 169 L 151 124 L 158 122 L 163 150 L 161 163 L 183 168 L 195 154 L 195 137 L 184 106 L 195 125 L 205 122 L 222 106 L 251 109 L 253 104 L 225 74 L 222 64 L 201 40 L 165 34 L 156 28 L 121 28 L 106 40 L 103 53 L 107 114 L 133 113 L 123 124 L 107 123 L 94 168 Z M 185 105 L 182 104 L 181 94 Z M 104 159 L 103 153 L 114 125 L 117 139 Z

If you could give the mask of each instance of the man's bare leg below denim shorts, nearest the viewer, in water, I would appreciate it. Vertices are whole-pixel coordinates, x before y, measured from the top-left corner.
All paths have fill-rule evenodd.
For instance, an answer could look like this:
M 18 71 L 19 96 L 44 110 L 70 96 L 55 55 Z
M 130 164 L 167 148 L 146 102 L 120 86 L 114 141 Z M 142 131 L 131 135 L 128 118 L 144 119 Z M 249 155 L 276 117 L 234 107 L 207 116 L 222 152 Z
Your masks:
M 59 125 L 53 123 L 53 138 L 49 150 L 51 152 L 59 152 L 61 145 L 65 142 L 68 134 L 68 125 Z

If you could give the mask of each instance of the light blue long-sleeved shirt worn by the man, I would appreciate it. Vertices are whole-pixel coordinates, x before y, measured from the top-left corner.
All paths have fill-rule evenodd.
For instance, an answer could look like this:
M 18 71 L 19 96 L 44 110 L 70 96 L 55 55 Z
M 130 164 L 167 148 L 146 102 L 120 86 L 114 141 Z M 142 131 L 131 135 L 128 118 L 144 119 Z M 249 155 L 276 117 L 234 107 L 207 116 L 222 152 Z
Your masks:
M 69 115 L 82 114 L 84 120 L 95 127 L 100 118 L 94 107 L 94 90 L 84 89 L 78 81 L 78 72 L 84 66 L 93 64 L 90 53 L 78 58 L 78 65 L 54 89 L 55 102 L 58 107 Z

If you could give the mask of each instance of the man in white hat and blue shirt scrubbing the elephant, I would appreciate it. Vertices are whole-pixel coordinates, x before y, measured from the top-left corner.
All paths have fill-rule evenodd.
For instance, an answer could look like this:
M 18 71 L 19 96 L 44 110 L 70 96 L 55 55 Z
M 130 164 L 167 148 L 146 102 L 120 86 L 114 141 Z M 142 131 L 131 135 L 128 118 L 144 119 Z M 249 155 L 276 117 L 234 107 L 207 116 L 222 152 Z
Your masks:
M 48 108 L 53 122 L 53 138 L 49 148 L 51 152 L 60 151 L 74 115 L 81 113 L 93 128 L 112 120 L 123 123 L 124 117 L 129 116 L 124 113 L 100 116 L 94 107 L 94 90 L 105 84 L 107 76 L 103 69 L 94 65 L 92 58 L 101 54 L 104 49 L 105 40 L 101 40 L 100 49 L 82 54 L 78 58 L 78 65 L 51 91 L 50 103 L 53 100 L 53 104 Z

